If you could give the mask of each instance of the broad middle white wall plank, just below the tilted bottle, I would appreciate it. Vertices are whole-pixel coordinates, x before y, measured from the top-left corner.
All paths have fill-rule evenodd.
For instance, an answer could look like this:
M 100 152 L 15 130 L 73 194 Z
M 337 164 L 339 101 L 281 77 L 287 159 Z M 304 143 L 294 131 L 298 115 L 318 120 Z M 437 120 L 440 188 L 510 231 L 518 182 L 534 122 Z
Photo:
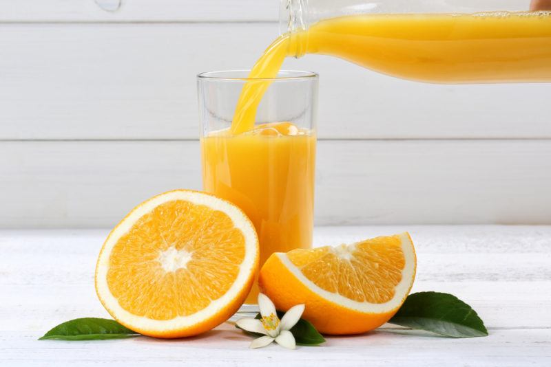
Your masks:
M 90 1 L 92 2 L 92 1 Z M 194 139 L 196 74 L 247 69 L 274 24 L 0 24 L 0 140 Z M 551 137 L 550 85 L 428 85 L 337 58 L 320 73 L 328 139 Z

